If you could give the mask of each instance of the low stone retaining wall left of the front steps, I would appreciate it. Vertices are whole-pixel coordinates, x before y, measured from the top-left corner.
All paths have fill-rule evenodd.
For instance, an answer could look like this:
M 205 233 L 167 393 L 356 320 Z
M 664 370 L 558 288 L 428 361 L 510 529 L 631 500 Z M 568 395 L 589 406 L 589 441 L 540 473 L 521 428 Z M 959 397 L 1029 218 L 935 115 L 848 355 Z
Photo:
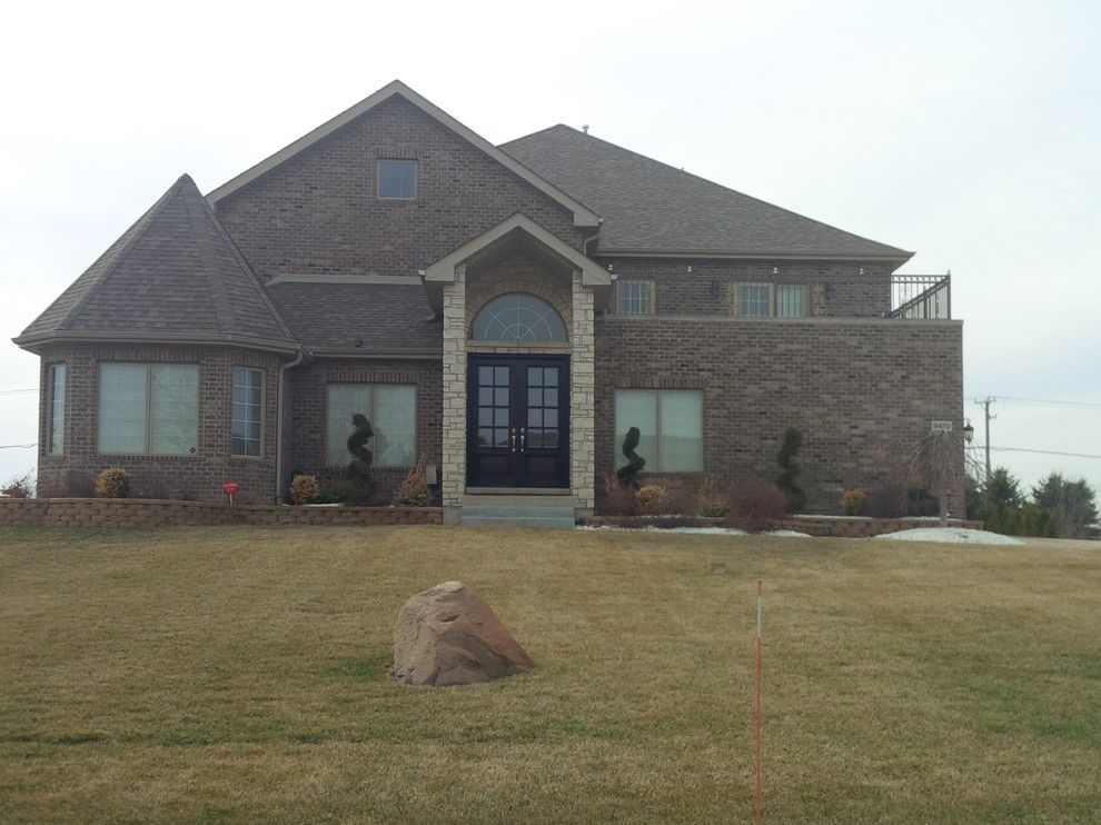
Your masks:
M 437 507 L 281 507 L 138 498 L 2 498 L 0 527 L 442 524 Z

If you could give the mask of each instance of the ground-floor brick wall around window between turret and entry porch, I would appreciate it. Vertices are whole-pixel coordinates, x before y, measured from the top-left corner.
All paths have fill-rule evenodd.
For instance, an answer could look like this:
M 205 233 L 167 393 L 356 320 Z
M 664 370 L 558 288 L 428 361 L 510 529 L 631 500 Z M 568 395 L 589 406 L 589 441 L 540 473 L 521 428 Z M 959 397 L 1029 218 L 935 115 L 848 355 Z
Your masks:
M 285 483 L 289 483 L 291 474 L 296 471 L 320 474 L 325 470 L 327 387 L 333 382 L 414 385 L 417 398 L 417 456 L 426 456 L 429 464 L 440 464 L 440 361 L 318 359 L 287 372 Z M 375 499 L 388 503 L 409 469 L 376 467 Z

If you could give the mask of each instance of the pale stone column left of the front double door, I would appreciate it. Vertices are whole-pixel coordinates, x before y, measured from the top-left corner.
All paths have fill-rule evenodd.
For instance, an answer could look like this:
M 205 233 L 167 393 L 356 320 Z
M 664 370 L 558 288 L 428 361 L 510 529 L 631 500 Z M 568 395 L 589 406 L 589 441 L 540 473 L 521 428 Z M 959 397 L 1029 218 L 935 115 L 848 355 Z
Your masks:
M 444 450 L 440 489 L 446 521 L 458 520 L 466 489 L 466 266 L 444 285 Z

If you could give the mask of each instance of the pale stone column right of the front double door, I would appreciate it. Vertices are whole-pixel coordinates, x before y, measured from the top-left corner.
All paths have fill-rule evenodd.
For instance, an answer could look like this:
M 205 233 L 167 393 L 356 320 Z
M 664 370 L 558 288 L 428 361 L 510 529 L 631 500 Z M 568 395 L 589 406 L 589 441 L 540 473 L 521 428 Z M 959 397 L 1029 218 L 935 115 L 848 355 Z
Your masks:
M 593 290 L 582 286 L 582 274 L 573 275 L 573 329 L 569 351 L 569 486 L 579 515 L 595 507 L 594 460 L 596 457 L 596 400 L 593 365 Z

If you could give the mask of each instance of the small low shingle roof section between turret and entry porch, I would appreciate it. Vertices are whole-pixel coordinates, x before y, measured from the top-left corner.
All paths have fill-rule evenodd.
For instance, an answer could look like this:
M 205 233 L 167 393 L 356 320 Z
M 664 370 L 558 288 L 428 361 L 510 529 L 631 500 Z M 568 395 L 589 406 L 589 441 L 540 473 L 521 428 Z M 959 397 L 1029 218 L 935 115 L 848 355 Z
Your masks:
M 443 350 L 443 324 L 429 321 L 433 310 L 420 284 L 335 284 L 304 277 L 269 281 L 267 291 L 308 350 Z

